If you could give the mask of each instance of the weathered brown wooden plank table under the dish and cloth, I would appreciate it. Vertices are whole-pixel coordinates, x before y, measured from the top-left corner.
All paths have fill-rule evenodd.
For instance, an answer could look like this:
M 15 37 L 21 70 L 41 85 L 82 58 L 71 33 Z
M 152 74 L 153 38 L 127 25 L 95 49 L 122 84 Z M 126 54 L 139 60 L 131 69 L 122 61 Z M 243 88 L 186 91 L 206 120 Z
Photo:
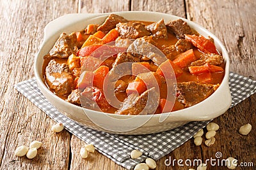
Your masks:
M 0 166 L 1 169 L 124 169 L 96 152 L 82 160 L 79 150 L 83 142 L 67 131 L 51 132 L 54 121 L 13 88 L 15 83 L 34 76 L 35 53 L 44 37 L 45 25 L 67 13 L 104 13 L 113 11 L 160 11 L 188 18 L 200 24 L 227 46 L 231 71 L 256 80 L 256 1 L 104 1 L 104 0 L 9 0 L 0 2 L 1 81 L 0 81 Z M 189 169 L 165 166 L 169 159 L 209 159 L 221 152 L 223 158 L 236 157 L 239 162 L 253 162 L 256 168 L 256 95 L 249 97 L 214 120 L 220 125 L 216 143 L 211 148 L 195 146 L 189 140 L 157 161 L 156 169 Z M 248 136 L 238 133 L 241 125 L 250 123 Z M 15 148 L 43 141 L 35 159 L 15 157 Z M 194 167 L 195 168 L 195 167 Z M 208 167 L 208 169 L 226 169 Z

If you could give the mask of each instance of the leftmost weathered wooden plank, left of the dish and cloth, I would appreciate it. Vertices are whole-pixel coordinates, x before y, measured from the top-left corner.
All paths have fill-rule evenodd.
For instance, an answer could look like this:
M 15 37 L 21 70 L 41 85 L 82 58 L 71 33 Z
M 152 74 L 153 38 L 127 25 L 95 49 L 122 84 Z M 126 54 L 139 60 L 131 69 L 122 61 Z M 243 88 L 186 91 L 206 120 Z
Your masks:
M 65 6 L 63 5 L 65 4 Z M 13 85 L 34 76 L 33 62 L 44 27 L 52 19 L 76 12 L 77 1 L 1 1 L 0 169 L 67 169 L 70 134 L 51 132 L 54 121 Z M 72 8 L 70 8 L 72 6 Z M 15 148 L 42 141 L 35 159 L 15 157 Z

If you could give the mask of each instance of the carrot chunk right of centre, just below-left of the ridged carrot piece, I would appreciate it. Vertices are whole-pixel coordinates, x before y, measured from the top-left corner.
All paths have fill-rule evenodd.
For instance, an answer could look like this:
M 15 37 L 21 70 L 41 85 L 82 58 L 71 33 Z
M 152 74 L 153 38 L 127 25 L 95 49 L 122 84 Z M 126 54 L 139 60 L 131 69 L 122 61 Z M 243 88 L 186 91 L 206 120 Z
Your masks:
M 169 59 L 160 64 L 160 66 L 156 70 L 156 73 L 165 78 L 173 78 L 173 74 L 170 71 L 170 67 L 172 67 L 176 77 L 180 76 L 183 73 L 182 69 L 180 69 L 179 66 L 174 64 L 172 60 Z

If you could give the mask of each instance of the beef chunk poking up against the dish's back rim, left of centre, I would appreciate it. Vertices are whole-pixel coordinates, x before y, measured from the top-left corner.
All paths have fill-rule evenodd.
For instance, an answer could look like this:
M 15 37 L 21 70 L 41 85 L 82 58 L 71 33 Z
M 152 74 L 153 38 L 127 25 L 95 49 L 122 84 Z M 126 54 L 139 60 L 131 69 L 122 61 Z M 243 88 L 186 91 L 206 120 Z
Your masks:
M 116 24 L 119 22 L 128 22 L 128 20 L 126 20 L 124 17 L 112 13 L 108 16 L 108 18 L 106 18 L 105 22 L 98 27 L 97 31 L 109 32 L 111 29 L 114 29 Z

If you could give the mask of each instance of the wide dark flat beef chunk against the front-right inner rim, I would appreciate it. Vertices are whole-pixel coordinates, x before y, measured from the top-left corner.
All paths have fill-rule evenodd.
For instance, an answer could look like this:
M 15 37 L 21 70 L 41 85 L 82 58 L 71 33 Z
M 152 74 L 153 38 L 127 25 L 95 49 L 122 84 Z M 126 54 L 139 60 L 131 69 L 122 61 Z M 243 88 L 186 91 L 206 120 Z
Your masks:
M 211 85 L 189 81 L 176 83 L 175 87 L 178 100 L 188 108 L 211 96 L 211 94 L 219 87 L 219 84 Z

